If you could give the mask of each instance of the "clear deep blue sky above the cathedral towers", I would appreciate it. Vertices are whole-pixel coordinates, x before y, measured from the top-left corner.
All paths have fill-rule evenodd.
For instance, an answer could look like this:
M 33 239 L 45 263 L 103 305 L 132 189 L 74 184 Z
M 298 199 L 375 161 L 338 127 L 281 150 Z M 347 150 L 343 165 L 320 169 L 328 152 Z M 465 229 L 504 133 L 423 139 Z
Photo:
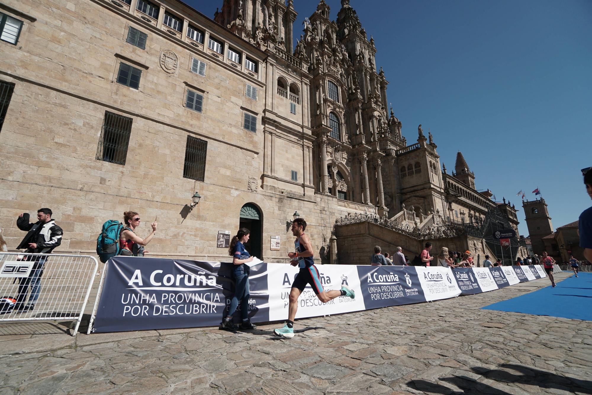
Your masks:
M 222 0 L 185 0 L 213 18 Z M 295 38 L 318 1 L 295 0 Z M 339 0 L 327 0 L 337 19 Z M 539 187 L 554 228 L 592 206 L 592 1 L 377 1 L 350 5 L 377 47 L 408 142 L 430 129 L 452 170 L 462 151 L 477 189 L 519 208 Z

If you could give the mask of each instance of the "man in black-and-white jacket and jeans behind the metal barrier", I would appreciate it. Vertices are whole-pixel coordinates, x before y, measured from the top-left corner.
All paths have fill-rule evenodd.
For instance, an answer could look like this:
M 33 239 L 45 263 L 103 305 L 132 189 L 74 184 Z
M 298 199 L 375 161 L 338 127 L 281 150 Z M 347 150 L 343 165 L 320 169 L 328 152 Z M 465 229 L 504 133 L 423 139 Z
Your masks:
M 53 212 L 48 208 L 38 209 L 37 222 L 29 222 L 29 214 L 22 213 L 18 216 L 17 226 L 21 231 L 27 232 L 27 235 L 18 245 L 17 250 L 26 248 L 25 252 L 31 254 L 51 254 L 54 248 L 62 244 L 62 228 L 56 225 L 52 219 Z M 41 292 L 41 276 L 43 276 L 43 267 L 47 261 L 47 255 L 27 255 L 25 260 L 34 261 L 31 273 L 28 277 L 18 279 L 17 304 L 14 306 L 18 311 L 31 311 L 35 308 L 35 303 L 39 299 Z M 24 304 L 27 298 L 27 291 L 31 286 L 31 294 L 27 305 Z

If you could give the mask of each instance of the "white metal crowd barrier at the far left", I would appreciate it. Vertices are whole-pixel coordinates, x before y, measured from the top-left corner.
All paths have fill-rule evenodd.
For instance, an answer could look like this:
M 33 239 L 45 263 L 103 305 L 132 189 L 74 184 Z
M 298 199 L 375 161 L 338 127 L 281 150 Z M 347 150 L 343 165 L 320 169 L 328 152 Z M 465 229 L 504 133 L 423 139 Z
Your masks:
M 0 253 L 0 322 L 75 319 L 76 336 L 97 269 L 90 255 Z

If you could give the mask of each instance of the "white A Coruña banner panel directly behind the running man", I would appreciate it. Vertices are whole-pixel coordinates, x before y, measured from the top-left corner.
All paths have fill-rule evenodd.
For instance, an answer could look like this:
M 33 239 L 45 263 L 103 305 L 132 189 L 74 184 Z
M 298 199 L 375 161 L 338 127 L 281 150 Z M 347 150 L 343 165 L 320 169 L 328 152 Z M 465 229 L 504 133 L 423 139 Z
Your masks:
M 317 317 L 365 310 L 358 268 L 354 265 L 315 265 L 324 290 L 339 290 L 346 284 L 356 293 L 356 298 L 348 296 L 336 297 L 327 303 L 321 303 L 308 285 L 298 298 L 296 318 Z M 288 296 L 294 278 L 300 270 L 298 267 L 282 263 L 268 263 L 269 284 L 269 320 L 288 319 Z

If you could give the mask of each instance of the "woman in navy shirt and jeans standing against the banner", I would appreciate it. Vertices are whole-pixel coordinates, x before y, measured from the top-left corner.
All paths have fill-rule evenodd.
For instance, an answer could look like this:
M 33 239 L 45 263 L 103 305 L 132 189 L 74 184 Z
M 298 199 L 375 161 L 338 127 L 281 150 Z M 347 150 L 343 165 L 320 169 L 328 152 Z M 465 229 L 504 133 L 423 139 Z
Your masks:
M 236 331 L 239 329 L 238 326 L 234 325 L 232 318 L 236 308 L 239 306 L 240 300 L 240 312 L 243 317 L 240 323 L 240 329 L 255 329 L 257 328 L 249 320 L 249 266 L 247 262 L 253 260 L 253 257 L 249 255 L 249 252 L 244 249 L 243 243 L 249 241 L 250 231 L 247 228 L 240 228 L 236 236 L 230 241 L 230 247 L 228 252 L 234 264 L 234 296 L 230 301 L 230 310 L 228 315 L 220 324 L 220 329 L 226 329 L 227 331 Z

